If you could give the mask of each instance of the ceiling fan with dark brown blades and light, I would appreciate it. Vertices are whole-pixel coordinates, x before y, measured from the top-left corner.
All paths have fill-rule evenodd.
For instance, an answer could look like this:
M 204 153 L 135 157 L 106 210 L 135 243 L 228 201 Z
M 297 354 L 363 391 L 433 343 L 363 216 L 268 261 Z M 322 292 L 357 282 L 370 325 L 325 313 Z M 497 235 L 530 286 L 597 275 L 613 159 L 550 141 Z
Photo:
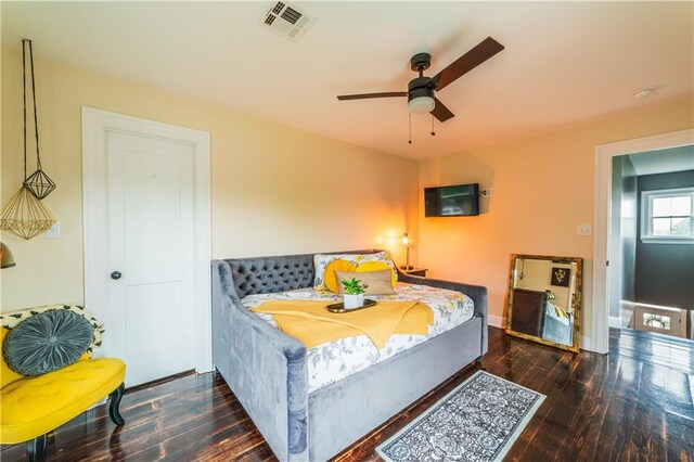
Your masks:
M 339 101 L 365 100 L 370 98 L 408 97 L 408 108 L 411 113 L 432 113 L 439 121 L 453 117 L 453 113 L 437 98 L 436 92 L 452 84 L 459 77 L 467 74 L 494 54 L 503 50 L 503 44 L 491 37 L 487 37 L 467 53 L 453 61 L 448 67 L 434 77 L 426 77 L 424 70 L 432 65 L 429 53 L 417 53 L 410 59 L 412 70 L 420 73 L 419 77 L 410 80 L 408 91 L 390 91 L 385 93 L 343 94 Z

